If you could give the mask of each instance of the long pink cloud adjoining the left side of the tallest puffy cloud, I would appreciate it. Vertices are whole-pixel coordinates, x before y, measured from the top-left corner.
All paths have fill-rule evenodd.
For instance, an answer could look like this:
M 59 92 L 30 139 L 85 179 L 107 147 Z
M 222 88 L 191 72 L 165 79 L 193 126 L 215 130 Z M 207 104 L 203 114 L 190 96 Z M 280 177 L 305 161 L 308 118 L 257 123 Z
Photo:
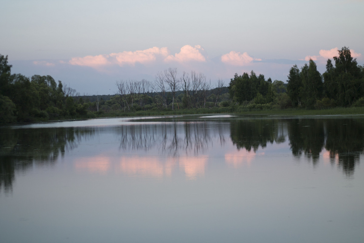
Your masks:
M 116 58 L 116 62 L 123 66 L 124 64 L 134 65 L 135 63 L 147 63 L 155 61 L 157 56 L 167 56 L 169 55 L 169 50 L 167 47 L 153 47 L 141 51 L 123 51 L 119 53 L 111 53 L 110 56 Z

